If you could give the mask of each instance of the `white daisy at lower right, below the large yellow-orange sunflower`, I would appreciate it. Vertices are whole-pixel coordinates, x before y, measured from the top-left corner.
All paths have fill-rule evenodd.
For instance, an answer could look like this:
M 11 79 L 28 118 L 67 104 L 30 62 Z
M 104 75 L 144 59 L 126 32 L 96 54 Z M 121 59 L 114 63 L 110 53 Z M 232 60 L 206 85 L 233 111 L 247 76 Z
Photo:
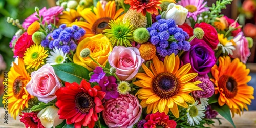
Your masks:
M 187 108 L 187 123 L 190 124 L 190 126 L 194 126 L 195 123 L 198 125 L 202 119 L 205 117 L 204 114 L 204 106 L 203 104 L 198 104 L 198 101 L 196 101 L 194 104 L 191 104 Z

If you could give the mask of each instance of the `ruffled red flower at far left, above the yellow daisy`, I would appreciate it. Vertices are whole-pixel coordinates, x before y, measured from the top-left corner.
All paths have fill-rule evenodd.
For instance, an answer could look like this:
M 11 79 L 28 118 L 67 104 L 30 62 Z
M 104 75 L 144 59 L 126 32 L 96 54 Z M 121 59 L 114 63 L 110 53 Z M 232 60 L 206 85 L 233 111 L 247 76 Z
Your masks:
M 23 33 L 16 42 L 14 46 L 14 57 L 23 57 L 27 48 L 32 46 L 34 42 L 32 41 L 32 35 L 28 35 L 27 32 Z

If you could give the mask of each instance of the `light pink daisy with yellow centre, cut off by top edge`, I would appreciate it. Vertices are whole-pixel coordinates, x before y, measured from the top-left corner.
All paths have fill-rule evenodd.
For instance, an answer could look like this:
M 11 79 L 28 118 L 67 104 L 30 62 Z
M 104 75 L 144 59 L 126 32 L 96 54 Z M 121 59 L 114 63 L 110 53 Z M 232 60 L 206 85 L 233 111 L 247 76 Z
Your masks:
M 197 20 L 197 15 L 209 10 L 209 8 L 204 7 L 207 4 L 207 2 L 204 2 L 204 0 L 181 0 L 178 2 L 178 4 L 188 9 L 187 18 L 192 17 L 195 21 Z

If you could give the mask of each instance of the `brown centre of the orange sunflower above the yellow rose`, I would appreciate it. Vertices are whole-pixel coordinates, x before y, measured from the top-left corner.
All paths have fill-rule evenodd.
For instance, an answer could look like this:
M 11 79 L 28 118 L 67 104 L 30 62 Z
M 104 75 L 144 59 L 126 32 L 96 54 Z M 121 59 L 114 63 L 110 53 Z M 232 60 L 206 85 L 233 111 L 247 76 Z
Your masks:
M 100 34 L 100 33 L 103 33 L 102 31 L 104 29 L 109 29 L 110 27 L 108 25 L 110 20 L 112 20 L 112 18 L 110 17 L 99 18 L 98 20 L 96 20 L 96 22 L 93 24 L 93 27 L 92 27 L 93 33 L 95 35 Z

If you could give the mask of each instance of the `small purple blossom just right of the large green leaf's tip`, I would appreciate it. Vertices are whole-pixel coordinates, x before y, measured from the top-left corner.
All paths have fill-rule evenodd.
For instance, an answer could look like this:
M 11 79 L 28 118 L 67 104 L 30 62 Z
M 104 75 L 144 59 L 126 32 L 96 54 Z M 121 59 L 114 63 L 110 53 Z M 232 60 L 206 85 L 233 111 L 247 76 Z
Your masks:
M 97 82 L 99 83 L 101 79 L 104 78 L 104 76 L 106 75 L 106 73 L 103 71 L 103 69 L 99 66 L 97 66 L 95 68 L 95 70 L 93 70 L 94 74 L 91 76 L 91 79 L 89 80 L 89 82 Z

